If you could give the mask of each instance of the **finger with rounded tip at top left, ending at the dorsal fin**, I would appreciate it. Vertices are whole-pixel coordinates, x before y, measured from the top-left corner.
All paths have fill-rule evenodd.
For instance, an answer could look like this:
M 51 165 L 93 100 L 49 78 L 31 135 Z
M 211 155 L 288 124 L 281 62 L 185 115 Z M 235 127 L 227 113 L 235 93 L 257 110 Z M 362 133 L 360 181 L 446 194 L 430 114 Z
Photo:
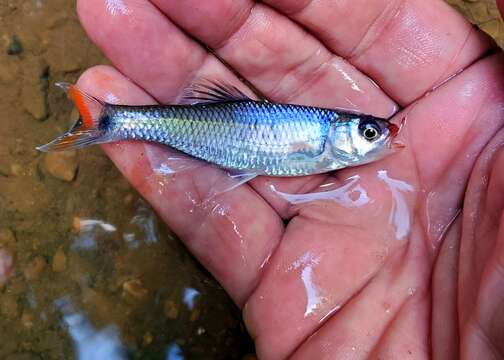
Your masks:
M 235 78 L 147 1 L 80 0 L 93 42 L 126 77 L 162 103 L 173 103 L 194 77 Z

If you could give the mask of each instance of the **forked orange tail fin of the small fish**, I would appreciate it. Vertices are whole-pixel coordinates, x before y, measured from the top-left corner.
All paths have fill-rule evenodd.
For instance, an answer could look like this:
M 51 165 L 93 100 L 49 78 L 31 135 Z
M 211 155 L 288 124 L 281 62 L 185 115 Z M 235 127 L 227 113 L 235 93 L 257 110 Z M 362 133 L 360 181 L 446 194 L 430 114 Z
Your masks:
M 66 91 L 79 110 L 80 117 L 72 129 L 50 143 L 37 147 L 37 150 L 64 151 L 107 142 L 106 134 L 99 129 L 100 115 L 105 103 L 75 85 L 57 83 L 56 86 Z

